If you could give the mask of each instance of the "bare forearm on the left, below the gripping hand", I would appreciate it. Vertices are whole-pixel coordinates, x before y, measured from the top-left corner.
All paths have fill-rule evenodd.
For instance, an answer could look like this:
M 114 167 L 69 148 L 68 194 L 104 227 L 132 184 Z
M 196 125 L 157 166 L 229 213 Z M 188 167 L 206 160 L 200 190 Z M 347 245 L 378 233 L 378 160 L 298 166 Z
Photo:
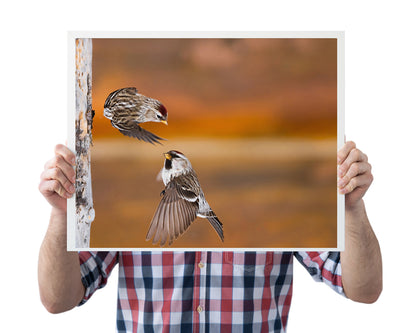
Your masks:
M 52 209 L 38 264 L 40 297 L 52 313 L 72 309 L 84 295 L 78 253 L 67 252 L 66 234 L 66 214 Z

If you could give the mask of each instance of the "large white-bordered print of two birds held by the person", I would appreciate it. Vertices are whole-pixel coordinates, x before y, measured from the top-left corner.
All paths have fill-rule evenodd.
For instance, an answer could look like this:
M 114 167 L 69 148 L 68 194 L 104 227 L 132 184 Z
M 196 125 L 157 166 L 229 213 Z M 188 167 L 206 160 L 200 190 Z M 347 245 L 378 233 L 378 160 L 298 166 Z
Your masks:
M 343 32 L 70 32 L 69 250 L 343 250 Z

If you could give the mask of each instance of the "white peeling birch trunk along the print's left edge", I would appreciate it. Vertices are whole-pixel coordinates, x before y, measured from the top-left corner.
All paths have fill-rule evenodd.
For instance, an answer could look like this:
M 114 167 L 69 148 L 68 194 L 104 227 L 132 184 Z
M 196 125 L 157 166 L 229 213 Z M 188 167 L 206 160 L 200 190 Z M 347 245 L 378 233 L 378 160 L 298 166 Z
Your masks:
M 91 156 L 92 145 L 92 40 L 76 39 L 75 55 L 75 150 L 76 150 L 76 230 L 75 246 L 90 246 L 90 228 L 95 217 L 92 200 Z

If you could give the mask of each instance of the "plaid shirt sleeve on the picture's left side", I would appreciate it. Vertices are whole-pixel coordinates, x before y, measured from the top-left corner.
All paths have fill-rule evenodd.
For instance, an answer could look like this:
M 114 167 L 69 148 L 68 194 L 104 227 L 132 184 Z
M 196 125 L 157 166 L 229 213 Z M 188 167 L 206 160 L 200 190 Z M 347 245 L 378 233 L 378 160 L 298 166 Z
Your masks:
M 118 252 L 79 252 L 81 281 L 85 286 L 84 304 L 92 294 L 107 284 L 111 271 L 118 262 Z

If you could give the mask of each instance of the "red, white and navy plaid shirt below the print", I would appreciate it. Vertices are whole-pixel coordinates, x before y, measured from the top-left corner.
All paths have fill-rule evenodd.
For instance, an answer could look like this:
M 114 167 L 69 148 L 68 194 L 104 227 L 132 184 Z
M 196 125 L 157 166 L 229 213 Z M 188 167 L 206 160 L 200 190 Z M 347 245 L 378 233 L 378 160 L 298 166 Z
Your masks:
M 293 255 L 343 294 L 338 252 L 80 252 L 81 304 L 118 263 L 118 332 L 285 332 Z

